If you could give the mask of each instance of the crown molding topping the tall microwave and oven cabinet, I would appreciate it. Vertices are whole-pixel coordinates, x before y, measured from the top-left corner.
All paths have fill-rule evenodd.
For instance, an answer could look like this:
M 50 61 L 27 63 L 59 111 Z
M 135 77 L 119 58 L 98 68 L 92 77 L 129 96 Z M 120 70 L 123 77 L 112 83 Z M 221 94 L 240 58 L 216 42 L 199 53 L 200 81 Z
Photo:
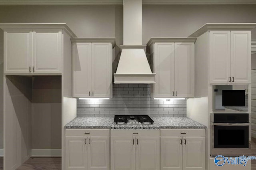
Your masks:
M 206 23 L 196 30 L 189 38 L 196 38 L 207 31 L 223 31 L 223 30 L 252 30 L 256 27 L 256 23 Z

